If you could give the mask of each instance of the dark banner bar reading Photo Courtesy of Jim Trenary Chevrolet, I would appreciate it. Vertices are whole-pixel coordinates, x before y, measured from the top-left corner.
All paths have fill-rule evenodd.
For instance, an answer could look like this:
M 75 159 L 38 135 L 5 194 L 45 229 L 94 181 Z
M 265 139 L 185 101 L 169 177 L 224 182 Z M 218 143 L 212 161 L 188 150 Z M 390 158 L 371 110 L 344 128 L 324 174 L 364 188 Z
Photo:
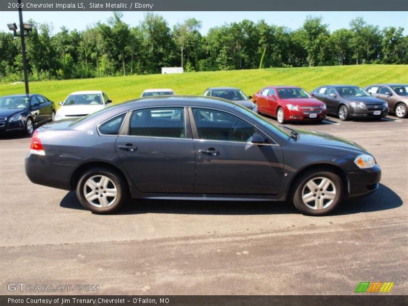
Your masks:
M 271 305 L 347 305 L 347 306 L 399 306 L 408 304 L 408 297 L 401 295 L 382 295 L 361 293 L 356 295 L 338 296 L 225 296 L 225 295 L 151 295 L 151 296 L 130 296 L 130 295 L 33 295 L 33 296 L 0 296 L 2 306 L 271 306 Z

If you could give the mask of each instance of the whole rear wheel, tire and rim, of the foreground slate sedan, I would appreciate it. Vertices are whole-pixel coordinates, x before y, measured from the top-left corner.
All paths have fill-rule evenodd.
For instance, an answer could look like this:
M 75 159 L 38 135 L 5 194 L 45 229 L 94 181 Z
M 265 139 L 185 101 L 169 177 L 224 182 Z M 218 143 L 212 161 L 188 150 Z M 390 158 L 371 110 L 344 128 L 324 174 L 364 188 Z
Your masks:
M 83 207 L 97 214 L 117 211 L 127 199 L 126 182 L 114 171 L 92 168 L 85 171 L 77 185 Z

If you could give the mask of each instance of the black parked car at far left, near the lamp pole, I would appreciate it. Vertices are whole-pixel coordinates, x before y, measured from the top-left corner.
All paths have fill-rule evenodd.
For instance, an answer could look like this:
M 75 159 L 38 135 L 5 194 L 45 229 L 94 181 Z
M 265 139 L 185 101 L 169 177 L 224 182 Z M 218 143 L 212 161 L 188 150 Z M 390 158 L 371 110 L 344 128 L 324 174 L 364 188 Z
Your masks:
M 0 134 L 24 131 L 31 135 L 35 126 L 54 119 L 54 102 L 41 94 L 0 97 Z

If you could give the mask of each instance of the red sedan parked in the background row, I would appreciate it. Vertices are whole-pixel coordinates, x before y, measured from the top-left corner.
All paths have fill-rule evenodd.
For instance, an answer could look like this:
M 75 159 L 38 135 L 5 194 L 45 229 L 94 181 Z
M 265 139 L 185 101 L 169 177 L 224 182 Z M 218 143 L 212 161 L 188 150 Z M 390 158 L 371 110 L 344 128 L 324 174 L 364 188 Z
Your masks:
M 295 86 L 268 86 L 253 94 L 253 103 L 259 114 L 275 117 L 281 124 L 285 121 L 314 120 L 326 118 L 326 105 L 307 91 Z

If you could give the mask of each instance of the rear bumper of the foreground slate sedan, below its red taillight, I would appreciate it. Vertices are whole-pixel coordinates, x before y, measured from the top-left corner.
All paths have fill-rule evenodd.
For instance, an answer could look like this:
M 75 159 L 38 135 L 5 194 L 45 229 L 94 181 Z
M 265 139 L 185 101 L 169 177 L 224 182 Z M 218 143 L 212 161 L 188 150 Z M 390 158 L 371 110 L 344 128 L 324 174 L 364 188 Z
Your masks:
M 51 164 L 46 156 L 29 153 L 25 157 L 25 174 L 38 185 L 70 190 L 73 167 Z

